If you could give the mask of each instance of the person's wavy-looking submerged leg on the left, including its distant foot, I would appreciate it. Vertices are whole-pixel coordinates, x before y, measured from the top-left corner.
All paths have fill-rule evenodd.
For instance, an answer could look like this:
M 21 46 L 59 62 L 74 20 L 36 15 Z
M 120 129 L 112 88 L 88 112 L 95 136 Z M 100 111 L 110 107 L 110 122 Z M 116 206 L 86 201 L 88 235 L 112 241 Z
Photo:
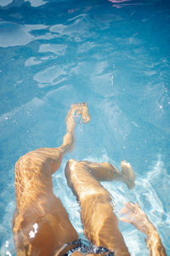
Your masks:
M 52 182 L 52 174 L 59 168 L 63 155 L 73 148 L 75 113 L 82 115 L 83 122 L 90 119 L 86 103 L 71 105 L 66 117 L 67 131 L 59 148 L 38 148 L 16 163 L 17 211 L 13 232 L 17 256 L 51 256 L 65 243 L 77 239 L 65 207 L 53 193 Z

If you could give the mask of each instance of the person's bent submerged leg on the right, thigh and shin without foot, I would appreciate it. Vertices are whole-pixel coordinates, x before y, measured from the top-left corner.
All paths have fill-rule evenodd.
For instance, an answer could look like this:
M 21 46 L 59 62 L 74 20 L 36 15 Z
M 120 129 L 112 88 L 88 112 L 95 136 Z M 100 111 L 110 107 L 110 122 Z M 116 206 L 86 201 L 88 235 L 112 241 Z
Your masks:
M 118 229 L 111 195 L 98 181 L 122 180 L 122 173 L 108 163 L 69 160 L 65 176 L 82 207 L 82 224 L 88 240 L 96 246 L 107 247 L 116 256 L 130 255 Z

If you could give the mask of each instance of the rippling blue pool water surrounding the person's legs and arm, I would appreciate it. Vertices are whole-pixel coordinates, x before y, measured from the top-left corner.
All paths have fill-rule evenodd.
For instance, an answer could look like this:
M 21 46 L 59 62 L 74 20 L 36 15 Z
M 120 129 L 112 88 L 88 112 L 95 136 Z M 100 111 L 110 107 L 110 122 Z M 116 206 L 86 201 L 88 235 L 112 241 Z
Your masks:
M 76 148 L 54 174 L 54 193 L 83 237 L 79 206 L 63 174 L 69 158 L 122 159 L 136 187 L 103 183 L 116 205 L 138 201 L 170 255 L 170 6 L 165 0 L 0 0 L 0 255 L 15 255 L 14 164 L 56 147 L 71 103 L 87 102 Z M 119 222 L 133 256 L 145 236 Z

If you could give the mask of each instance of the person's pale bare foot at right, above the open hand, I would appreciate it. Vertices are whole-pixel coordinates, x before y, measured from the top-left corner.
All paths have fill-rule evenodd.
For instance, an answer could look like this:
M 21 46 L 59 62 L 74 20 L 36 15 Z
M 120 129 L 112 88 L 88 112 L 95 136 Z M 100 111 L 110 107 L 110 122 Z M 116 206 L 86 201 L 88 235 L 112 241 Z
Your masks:
M 121 162 L 123 182 L 127 184 L 128 189 L 133 189 L 135 186 L 136 174 L 133 172 L 132 166 L 125 160 Z

